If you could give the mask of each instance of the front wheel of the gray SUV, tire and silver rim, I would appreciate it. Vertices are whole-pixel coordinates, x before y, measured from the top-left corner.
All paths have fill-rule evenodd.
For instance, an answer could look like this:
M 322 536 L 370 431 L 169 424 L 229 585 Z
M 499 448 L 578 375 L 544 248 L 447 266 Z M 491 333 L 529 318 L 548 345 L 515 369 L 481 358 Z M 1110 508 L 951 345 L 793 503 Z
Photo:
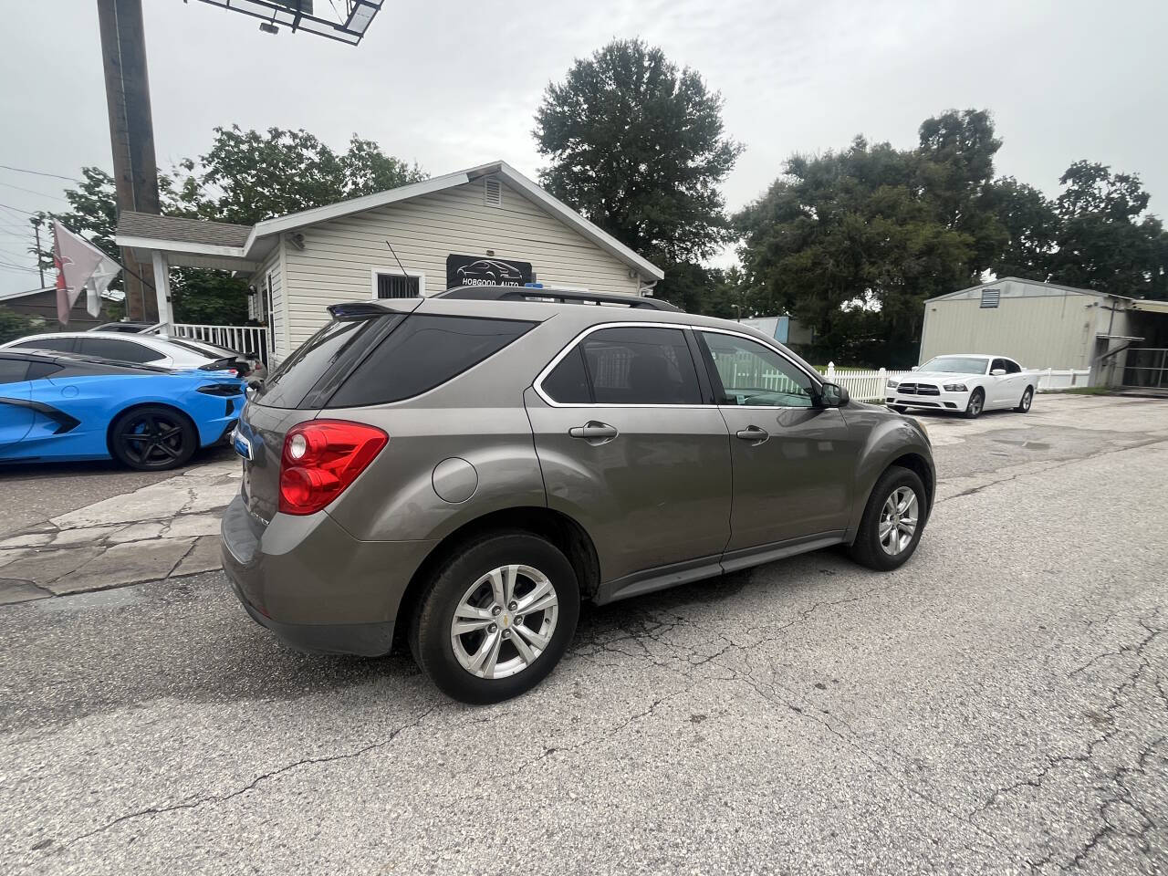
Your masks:
M 908 562 L 925 528 L 927 501 L 925 485 L 916 472 L 890 466 L 868 498 L 856 540 L 848 550 L 851 558 L 880 571 Z

